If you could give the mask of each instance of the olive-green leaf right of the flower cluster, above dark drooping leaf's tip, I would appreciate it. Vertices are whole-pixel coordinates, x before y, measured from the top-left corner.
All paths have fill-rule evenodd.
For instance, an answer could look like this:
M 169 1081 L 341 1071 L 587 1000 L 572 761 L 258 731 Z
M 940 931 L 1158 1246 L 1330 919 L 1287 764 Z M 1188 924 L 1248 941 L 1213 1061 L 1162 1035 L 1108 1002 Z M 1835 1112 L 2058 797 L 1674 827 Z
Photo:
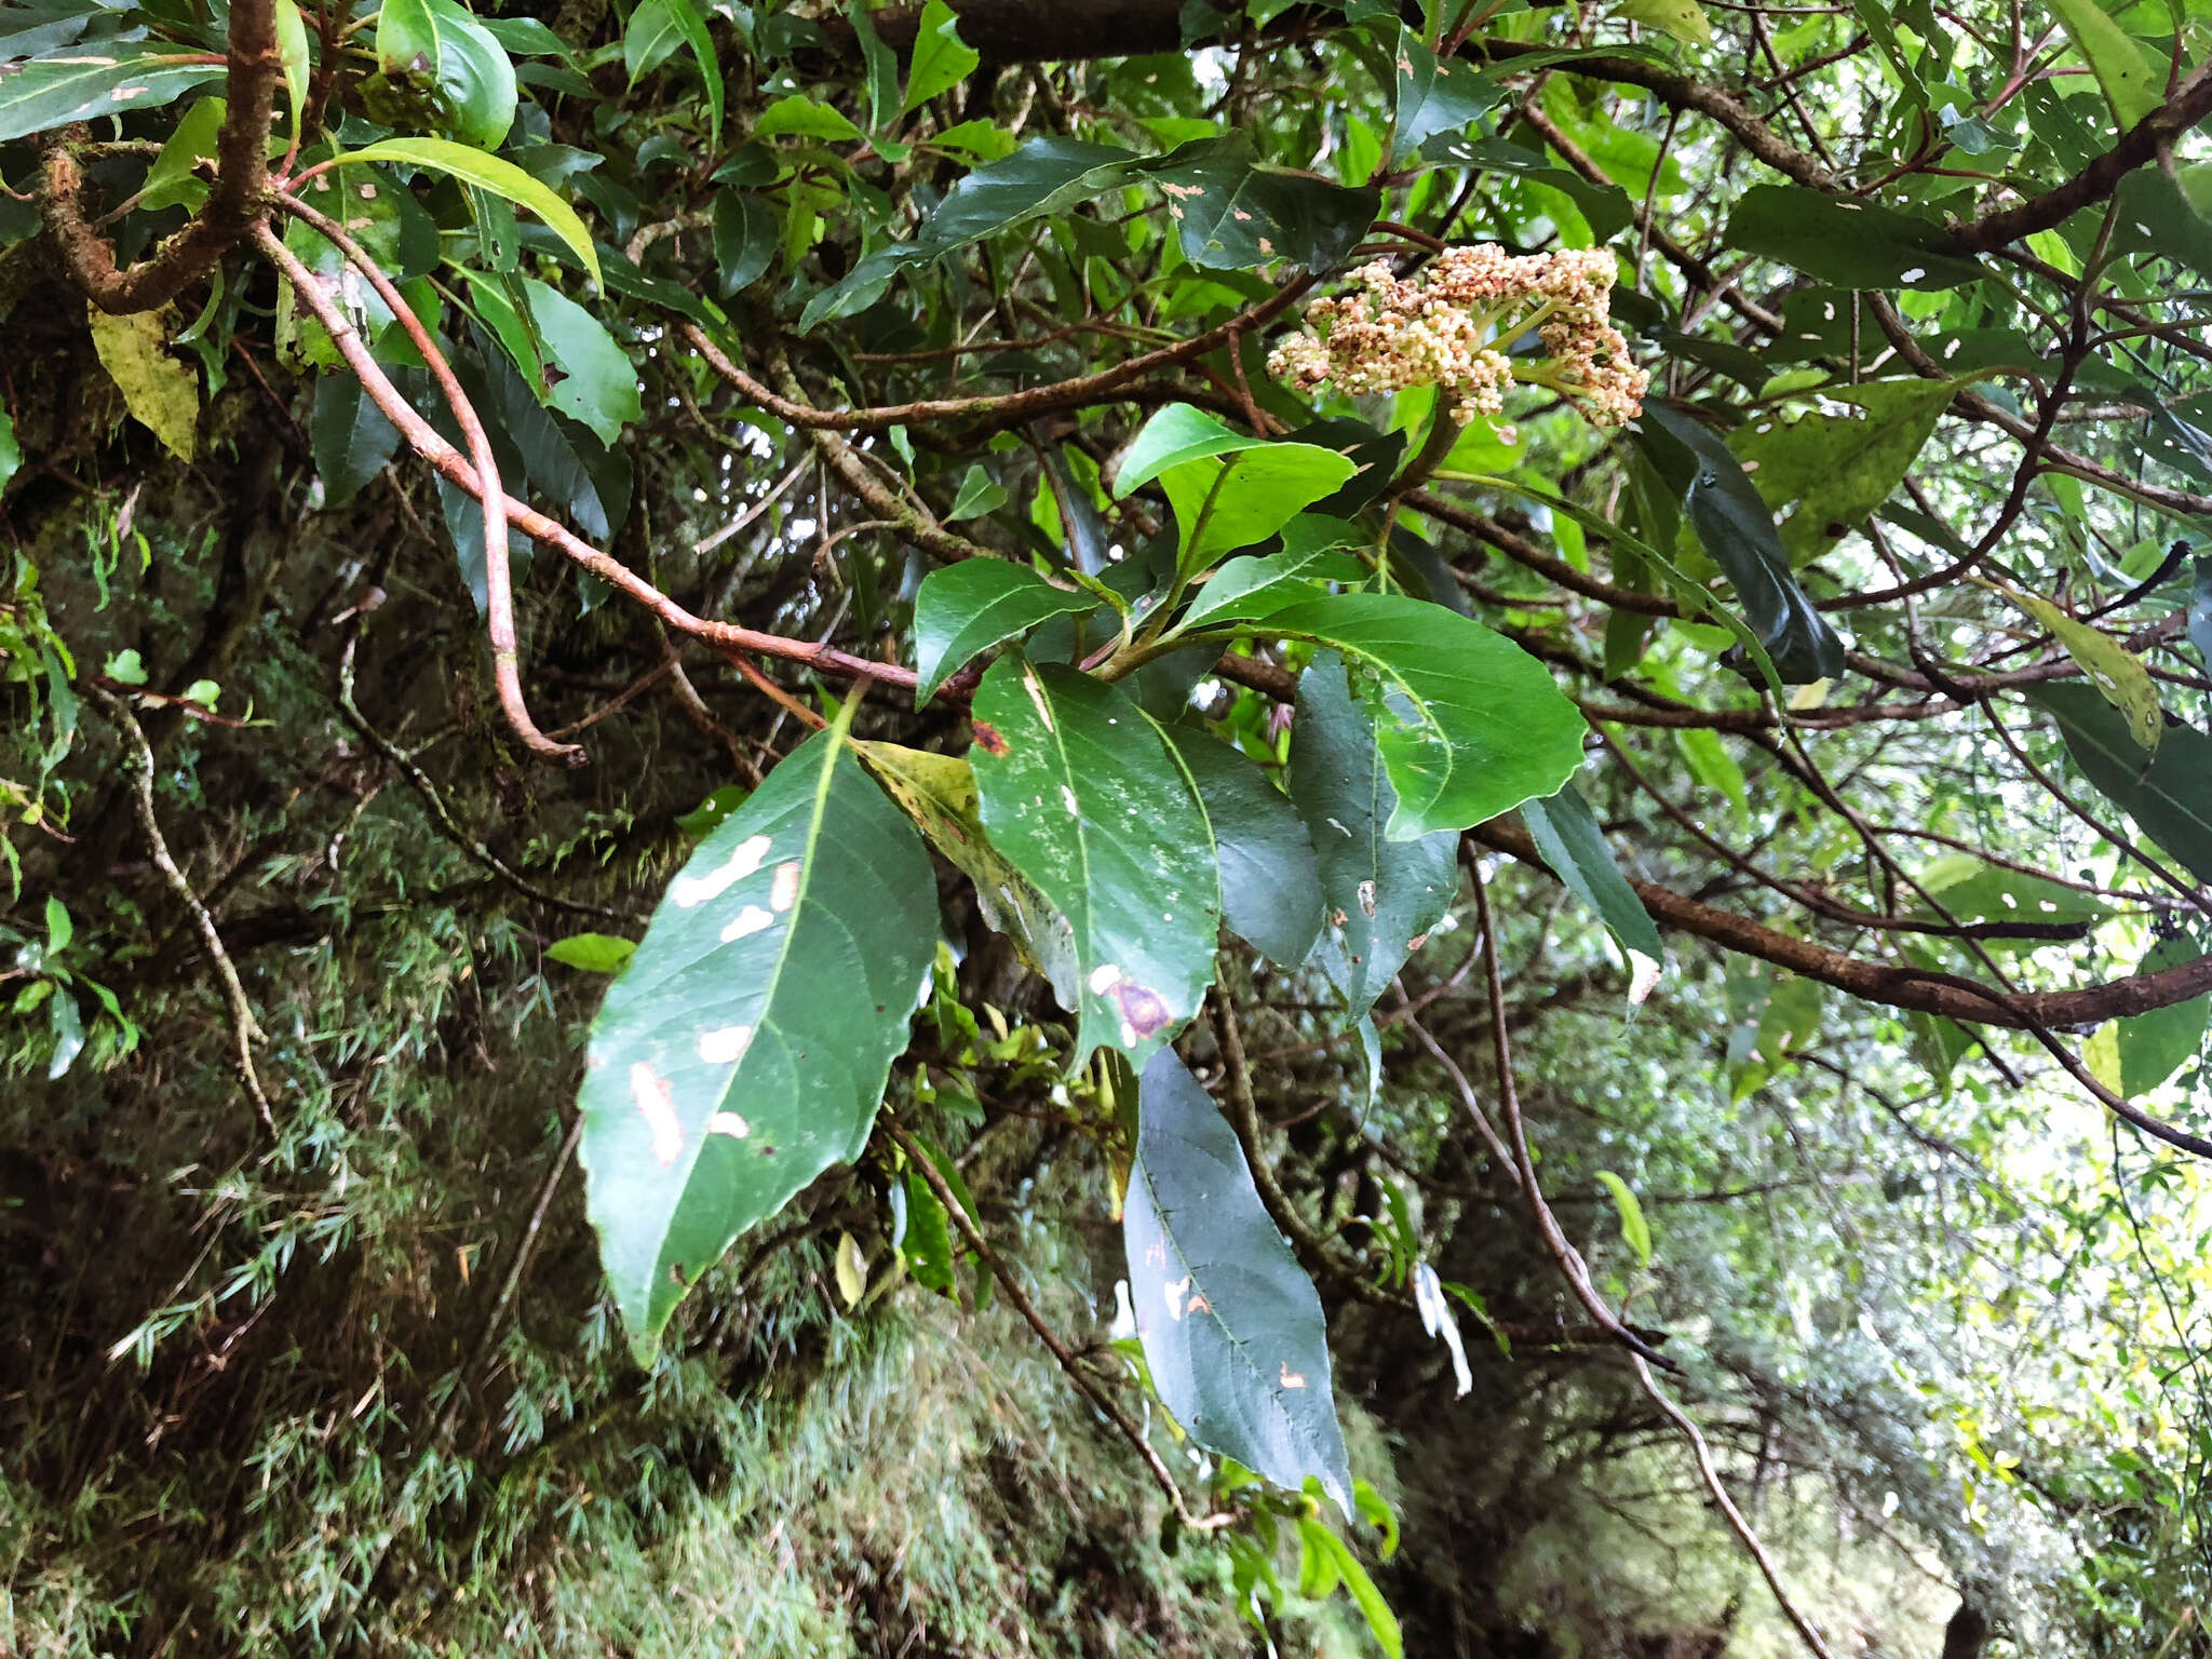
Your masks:
M 1874 380 L 1823 387 L 1818 411 L 1761 416 L 1736 427 L 1730 451 L 1767 507 L 1796 504 L 1783 526 L 1803 568 L 1856 531 L 1905 482 L 1958 392 L 1953 380 Z

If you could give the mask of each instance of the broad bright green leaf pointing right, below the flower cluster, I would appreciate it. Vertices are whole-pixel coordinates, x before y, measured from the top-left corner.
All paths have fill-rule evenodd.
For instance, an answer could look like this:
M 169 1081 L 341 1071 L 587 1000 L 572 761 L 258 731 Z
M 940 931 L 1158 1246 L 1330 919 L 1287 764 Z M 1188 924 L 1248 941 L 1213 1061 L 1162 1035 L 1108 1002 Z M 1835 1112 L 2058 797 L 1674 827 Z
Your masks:
M 1281 593 L 1256 588 L 1250 608 L 1232 602 L 1212 622 L 1243 617 L 1256 633 L 1334 646 L 1376 677 L 1383 763 L 1398 792 L 1394 841 L 1511 812 L 1582 765 L 1582 712 L 1511 639 L 1396 593 L 1290 604 Z

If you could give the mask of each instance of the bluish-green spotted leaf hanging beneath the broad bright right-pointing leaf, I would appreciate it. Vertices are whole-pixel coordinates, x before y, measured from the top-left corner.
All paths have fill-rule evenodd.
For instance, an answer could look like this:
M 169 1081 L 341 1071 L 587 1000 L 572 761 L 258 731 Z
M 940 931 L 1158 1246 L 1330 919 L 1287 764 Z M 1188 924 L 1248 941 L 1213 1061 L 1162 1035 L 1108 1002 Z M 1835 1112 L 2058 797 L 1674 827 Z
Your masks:
M 1451 615 L 1451 613 L 1440 613 Z M 1365 1015 L 1460 889 L 1453 830 L 1394 841 L 1398 814 L 1374 717 L 1352 699 L 1343 659 L 1323 650 L 1298 675 L 1290 726 L 1290 799 L 1321 872 L 1323 933 L 1318 967 Z

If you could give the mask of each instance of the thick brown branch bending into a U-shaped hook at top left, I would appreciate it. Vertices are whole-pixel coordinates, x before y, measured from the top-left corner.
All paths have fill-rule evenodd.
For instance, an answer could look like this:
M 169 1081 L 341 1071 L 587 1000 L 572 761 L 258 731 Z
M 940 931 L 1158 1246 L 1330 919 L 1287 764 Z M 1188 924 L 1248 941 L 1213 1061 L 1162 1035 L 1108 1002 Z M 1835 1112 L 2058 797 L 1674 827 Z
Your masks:
M 46 234 L 62 250 L 62 268 L 71 281 L 111 316 L 168 305 L 188 283 L 215 270 L 268 210 L 270 124 L 276 119 L 276 86 L 283 82 L 274 0 L 237 0 L 230 7 L 228 58 L 228 108 L 215 135 L 215 186 L 184 230 L 128 270 L 115 265 L 115 243 L 84 217 L 84 173 L 73 150 L 84 126 L 62 128 L 46 144 L 40 188 Z

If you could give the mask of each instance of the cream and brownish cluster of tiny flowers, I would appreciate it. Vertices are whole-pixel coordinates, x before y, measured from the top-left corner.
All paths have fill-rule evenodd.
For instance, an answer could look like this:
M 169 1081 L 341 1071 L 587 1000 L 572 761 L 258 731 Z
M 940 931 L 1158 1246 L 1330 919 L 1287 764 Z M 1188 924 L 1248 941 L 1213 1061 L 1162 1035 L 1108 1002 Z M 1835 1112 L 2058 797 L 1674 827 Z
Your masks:
M 1358 290 L 1314 301 L 1307 327 L 1274 349 L 1267 369 L 1301 392 L 1323 383 L 1352 394 L 1436 385 L 1451 394 L 1462 425 L 1504 414 L 1515 385 L 1542 385 L 1597 425 L 1617 427 L 1641 411 L 1650 376 L 1628 361 L 1628 341 L 1608 321 L 1613 276 L 1613 254 L 1601 248 L 1449 248 L 1411 281 L 1376 261 L 1354 272 Z M 1528 330 L 1546 356 L 1509 361 L 1502 347 Z

